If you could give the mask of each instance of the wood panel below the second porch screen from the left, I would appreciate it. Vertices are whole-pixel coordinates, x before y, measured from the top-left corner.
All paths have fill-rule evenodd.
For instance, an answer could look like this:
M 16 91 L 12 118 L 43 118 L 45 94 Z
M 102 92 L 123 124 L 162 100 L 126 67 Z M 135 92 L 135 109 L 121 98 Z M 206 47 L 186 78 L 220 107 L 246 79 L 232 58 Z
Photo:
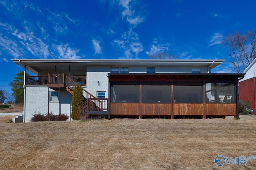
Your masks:
M 142 103 L 142 115 L 171 115 L 171 103 Z

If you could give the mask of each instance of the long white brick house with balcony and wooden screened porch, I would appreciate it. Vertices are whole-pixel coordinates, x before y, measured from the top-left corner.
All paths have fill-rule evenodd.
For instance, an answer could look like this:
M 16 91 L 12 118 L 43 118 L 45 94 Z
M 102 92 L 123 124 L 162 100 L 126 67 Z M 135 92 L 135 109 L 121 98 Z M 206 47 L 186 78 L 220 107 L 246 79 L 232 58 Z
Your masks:
M 238 80 L 211 73 L 224 60 L 12 59 L 24 72 L 24 122 L 32 114 L 71 115 L 73 88 L 83 87 L 80 118 L 238 117 Z M 218 93 L 234 100 L 220 102 Z M 212 97 L 214 96 L 214 97 Z M 71 120 L 71 118 L 70 118 Z

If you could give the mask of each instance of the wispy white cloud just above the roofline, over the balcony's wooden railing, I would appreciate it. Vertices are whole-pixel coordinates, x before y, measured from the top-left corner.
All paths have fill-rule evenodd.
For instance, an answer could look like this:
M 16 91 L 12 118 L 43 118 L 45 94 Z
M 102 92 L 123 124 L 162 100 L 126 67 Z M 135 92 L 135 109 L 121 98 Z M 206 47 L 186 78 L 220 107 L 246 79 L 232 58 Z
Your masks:
M 58 54 L 60 55 L 59 58 L 80 59 L 80 55 L 77 55 L 77 53 L 79 53 L 79 49 L 72 49 L 68 43 L 60 45 L 53 44 L 52 47 L 58 51 Z

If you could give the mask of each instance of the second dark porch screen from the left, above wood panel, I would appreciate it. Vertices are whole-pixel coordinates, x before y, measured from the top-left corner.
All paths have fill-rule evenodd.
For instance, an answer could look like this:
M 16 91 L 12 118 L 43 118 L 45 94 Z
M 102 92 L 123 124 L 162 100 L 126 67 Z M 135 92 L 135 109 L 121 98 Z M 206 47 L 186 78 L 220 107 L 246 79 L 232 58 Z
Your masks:
M 142 103 L 171 103 L 170 83 L 143 83 Z

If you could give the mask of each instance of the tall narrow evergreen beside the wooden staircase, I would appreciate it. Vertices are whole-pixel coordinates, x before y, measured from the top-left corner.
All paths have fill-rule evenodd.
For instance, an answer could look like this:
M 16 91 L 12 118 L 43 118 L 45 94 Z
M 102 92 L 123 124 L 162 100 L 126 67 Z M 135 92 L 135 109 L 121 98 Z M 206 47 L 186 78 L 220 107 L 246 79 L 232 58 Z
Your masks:
M 74 87 L 73 91 L 73 96 L 72 96 L 72 113 L 71 113 L 71 118 L 73 120 L 78 120 L 78 115 L 79 115 L 79 106 L 84 102 L 84 97 L 83 97 L 83 90 L 82 86 L 80 84 L 77 84 Z

